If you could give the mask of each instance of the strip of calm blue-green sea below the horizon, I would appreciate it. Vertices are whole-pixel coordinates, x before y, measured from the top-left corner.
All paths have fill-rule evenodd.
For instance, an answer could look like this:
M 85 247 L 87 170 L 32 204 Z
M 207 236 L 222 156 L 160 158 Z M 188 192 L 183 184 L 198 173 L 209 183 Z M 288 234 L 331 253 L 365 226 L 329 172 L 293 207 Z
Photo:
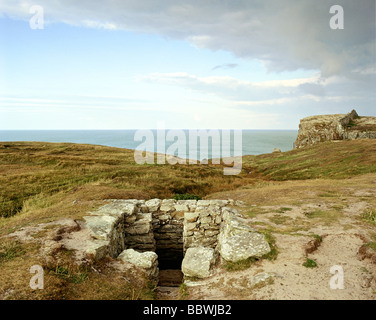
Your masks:
M 169 131 L 177 131 L 178 129 L 165 129 L 165 133 Z M 202 129 L 205 130 L 205 129 Z M 215 129 L 206 129 L 215 130 Z M 221 129 L 217 129 L 221 132 Z M 35 141 L 35 142 L 61 142 L 61 143 L 81 143 L 81 144 L 93 144 L 102 145 L 108 147 L 117 147 L 135 150 L 142 141 L 135 141 L 135 133 L 140 130 L 0 130 L 1 142 L 16 142 L 16 141 Z M 142 130 L 151 131 L 154 134 L 154 151 L 157 152 L 156 137 L 157 130 Z M 188 158 L 190 151 L 190 143 L 188 139 L 188 129 L 181 129 L 185 133 L 187 138 L 185 156 L 182 158 Z M 196 131 L 194 129 L 193 131 Z M 238 130 L 236 130 L 238 131 Z M 240 131 L 240 129 L 239 129 Z M 278 148 L 281 151 L 289 151 L 293 149 L 293 143 L 297 137 L 298 130 L 241 130 L 242 131 L 242 154 L 241 155 L 259 155 L 265 153 L 271 153 L 274 148 Z M 234 130 L 230 130 L 231 140 L 230 148 L 231 155 L 234 154 Z M 221 135 L 222 136 L 222 135 Z M 166 141 L 165 153 L 170 145 L 174 141 Z M 212 146 L 212 140 L 209 141 L 208 159 L 211 158 L 211 150 L 216 146 Z M 198 145 L 199 149 L 199 145 Z M 153 151 L 153 150 L 148 150 Z M 178 154 L 175 153 L 176 156 Z M 198 151 L 197 159 L 202 160 L 204 157 L 200 156 Z

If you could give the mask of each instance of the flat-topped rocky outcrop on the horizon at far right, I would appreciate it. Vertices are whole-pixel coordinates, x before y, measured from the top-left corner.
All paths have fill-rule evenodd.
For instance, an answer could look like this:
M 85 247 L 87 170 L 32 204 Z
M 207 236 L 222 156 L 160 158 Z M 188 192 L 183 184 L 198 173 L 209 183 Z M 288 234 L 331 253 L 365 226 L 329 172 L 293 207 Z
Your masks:
M 311 116 L 300 120 L 294 148 L 323 141 L 376 138 L 376 117 L 359 117 L 350 113 Z

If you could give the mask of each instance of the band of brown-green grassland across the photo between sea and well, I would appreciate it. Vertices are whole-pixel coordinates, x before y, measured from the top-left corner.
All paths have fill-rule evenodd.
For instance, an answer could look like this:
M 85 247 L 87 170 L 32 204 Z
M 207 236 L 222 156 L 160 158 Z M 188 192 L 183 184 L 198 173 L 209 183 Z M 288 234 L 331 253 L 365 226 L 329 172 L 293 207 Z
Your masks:
M 325 142 L 283 153 L 244 156 L 239 175 L 221 165 L 138 165 L 133 150 L 105 146 L 0 143 L 0 217 L 62 200 L 205 197 L 265 180 L 349 178 L 376 172 L 376 141 Z M 64 201 L 65 202 L 65 201 Z

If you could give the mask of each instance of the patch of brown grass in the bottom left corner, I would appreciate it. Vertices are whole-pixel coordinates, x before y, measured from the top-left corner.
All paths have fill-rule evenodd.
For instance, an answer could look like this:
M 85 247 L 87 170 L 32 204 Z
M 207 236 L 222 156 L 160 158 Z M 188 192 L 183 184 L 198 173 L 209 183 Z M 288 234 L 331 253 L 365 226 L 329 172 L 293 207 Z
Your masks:
M 12 243 L 12 245 L 10 244 Z M 10 300 L 139 300 L 153 299 L 154 291 L 137 270 L 132 274 L 116 272 L 111 259 L 88 260 L 75 264 L 71 252 L 55 252 L 58 259 L 46 262 L 40 256 L 37 243 L 8 241 L 8 255 L 0 260 L 0 299 Z M 4 246 L 3 246 L 4 247 Z M 13 248 L 13 249 L 12 249 Z M 0 252 L 1 249 L 0 249 Z M 30 267 L 40 265 L 44 270 L 44 288 L 31 289 Z

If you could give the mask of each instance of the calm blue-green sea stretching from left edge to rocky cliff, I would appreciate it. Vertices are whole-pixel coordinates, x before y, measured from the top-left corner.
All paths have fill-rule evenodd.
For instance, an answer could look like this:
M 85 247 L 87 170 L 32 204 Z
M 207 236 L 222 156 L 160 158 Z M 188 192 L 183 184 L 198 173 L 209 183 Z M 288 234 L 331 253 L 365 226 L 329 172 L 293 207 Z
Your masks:
M 163 139 L 169 133 L 173 135 L 177 131 L 180 132 L 180 137 L 182 133 L 184 134 L 184 139 L 178 137 L 172 141 L 166 141 L 166 139 Z M 194 139 L 190 139 L 190 132 L 195 131 L 198 133 L 197 130 L 168 129 L 165 129 L 163 132 L 157 132 L 156 130 L 0 130 L 0 141 L 72 142 L 133 150 L 137 148 L 142 149 L 142 146 L 147 146 L 145 147 L 147 151 L 155 152 L 162 151 L 160 149 L 162 146 L 167 154 L 173 154 L 185 159 L 196 158 L 197 160 L 213 158 L 212 150 L 221 150 L 216 149 L 220 148 L 220 146 L 222 146 L 223 149 L 222 137 L 225 137 L 225 135 L 222 134 L 221 130 L 217 130 L 219 132 L 220 140 L 209 139 L 208 151 L 206 153 L 200 153 L 200 140 L 198 139 L 198 144 L 195 144 L 192 143 L 192 140 Z M 210 130 L 206 130 L 206 132 L 210 133 Z M 136 133 L 138 136 L 143 136 L 144 134 L 143 138 L 135 139 L 137 136 Z M 236 139 L 239 135 L 236 135 L 235 133 L 241 135 L 241 148 L 234 148 L 236 145 L 239 145 L 240 141 L 239 139 Z M 278 148 L 282 152 L 289 151 L 293 149 L 293 143 L 297 134 L 298 130 L 230 130 L 230 135 L 228 136 L 230 141 L 228 145 L 231 149 L 229 151 L 231 154 L 226 154 L 226 156 L 259 155 L 271 153 L 274 148 Z M 154 145 L 146 143 L 147 139 L 153 139 Z M 161 141 L 160 139 L 165 142 L 158 145 L 158 141 Z M 177 148 L 172 147 L 172 144 L 175 143 L 176 145 L 179 139 L 180 143 L 185 143 L 186 147 L 177 150 Z M 198 149 L 198 152 L 192 152 L 192 148 Z M 221 151 L 219 152 L 222 156 Z

